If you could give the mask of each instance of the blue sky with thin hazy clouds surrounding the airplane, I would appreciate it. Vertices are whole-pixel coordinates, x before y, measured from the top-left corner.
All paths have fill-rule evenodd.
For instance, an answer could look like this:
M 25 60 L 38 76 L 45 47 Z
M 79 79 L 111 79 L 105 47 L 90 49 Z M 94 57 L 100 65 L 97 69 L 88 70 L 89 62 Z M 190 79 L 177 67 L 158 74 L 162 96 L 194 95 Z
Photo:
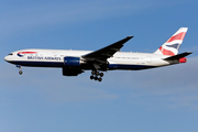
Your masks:
M 189 132 L 198 130 L 197 0 L 1 0 L 1 132 Z M 101 82 L 61 68 L 19 69 L 24 48 L 96 51 L 134 35 L 123 52 L 155 52 L 189 28 L 186 64 L 105 73 Z

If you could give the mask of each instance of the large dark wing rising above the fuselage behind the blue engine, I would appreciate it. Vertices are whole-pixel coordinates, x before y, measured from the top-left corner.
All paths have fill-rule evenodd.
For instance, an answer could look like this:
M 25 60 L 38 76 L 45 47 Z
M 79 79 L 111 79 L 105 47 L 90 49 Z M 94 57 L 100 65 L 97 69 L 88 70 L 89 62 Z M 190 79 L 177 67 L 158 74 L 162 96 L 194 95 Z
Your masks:
M 131 40 L 133 36 L 127 36 L 125 38 L 116 42 L 109 46 L 106 46 L 101 50 L 98 50 L 96 52 L 89 53 L 87 55 L 84 55 L 82 58 L 87 59 L 87 61 L 95 61 L 95 62 L 99 62 L 99 63 L 106 63 L 108 58 L 110 58 L 111 56 L 113 56 L 114 53 L 117 53 L 118 51 L 120 51 L 120 48 L 123 46 L 123 44 L 125 42 L 128 42 L 129 40 Z

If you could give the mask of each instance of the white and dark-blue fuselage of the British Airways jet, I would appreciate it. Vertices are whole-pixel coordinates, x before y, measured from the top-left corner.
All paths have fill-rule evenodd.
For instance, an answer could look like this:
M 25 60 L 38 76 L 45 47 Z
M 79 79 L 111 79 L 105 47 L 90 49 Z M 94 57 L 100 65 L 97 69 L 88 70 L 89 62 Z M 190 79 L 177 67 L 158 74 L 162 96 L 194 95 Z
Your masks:
M 66 51 L 66 50 L 22 50 L 12 52 L 4 59 L 9 63 L 21 66 L 33 67 L 64 67 L 64 57 L 80 57 L 92 51 Z M 166 55 L 117 52 L 112 57 L 108 58 L 109 69 L 146 69 L 161 66 L 167 66 L 179 62 L 167 62 Z M 84 64 L 84 59 L 81 58 Z M 89 69 L 84 66 L 82 69 Z

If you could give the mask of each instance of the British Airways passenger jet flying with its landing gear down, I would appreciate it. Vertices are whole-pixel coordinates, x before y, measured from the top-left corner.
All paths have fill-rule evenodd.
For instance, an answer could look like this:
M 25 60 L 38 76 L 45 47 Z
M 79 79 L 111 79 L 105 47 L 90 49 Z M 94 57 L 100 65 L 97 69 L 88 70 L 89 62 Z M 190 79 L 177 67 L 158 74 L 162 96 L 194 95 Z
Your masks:
M 141 70 L 186 63 L 191 52 L 178 54 L 178 50 L 188 28 L 180 28 L 154 53 L 121 52 L 121 47 L 133 36 L 118 41 L 98 51 L 72 50 L 21 50 L 10 53 L 4 61 L 16 65 L 22 75 L 21 66 L 58 67 L 64 76 L 78 76 L 91 70 L 90 79 L 101 81 L 102 72 Z

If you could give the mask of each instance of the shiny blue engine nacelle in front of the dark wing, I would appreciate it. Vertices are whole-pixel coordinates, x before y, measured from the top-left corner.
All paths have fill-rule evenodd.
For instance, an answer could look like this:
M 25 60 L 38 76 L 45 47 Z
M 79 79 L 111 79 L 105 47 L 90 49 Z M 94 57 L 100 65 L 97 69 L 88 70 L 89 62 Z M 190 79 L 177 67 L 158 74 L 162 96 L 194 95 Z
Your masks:
M 64 57 L 64 66 L 66 67 L 79 67 L 81 61 L 79 57 Z

